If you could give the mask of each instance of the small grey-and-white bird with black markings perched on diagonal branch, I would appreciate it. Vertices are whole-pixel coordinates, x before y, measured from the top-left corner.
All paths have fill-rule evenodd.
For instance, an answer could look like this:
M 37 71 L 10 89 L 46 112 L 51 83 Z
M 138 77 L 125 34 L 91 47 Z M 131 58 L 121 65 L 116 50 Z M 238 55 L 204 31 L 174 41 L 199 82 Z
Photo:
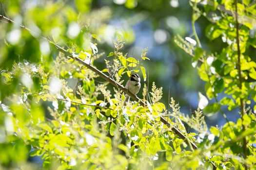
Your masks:
M 125 88 L 127 88 L 131 93 L 136 95 L 140 89 L 140 77 L 137 73 L 133 73 L 130 77 L 130 80 L 127 81 Z M 125 95 L 125 100 L 123 105 L 125 106 L 127 102 L 129 102 L 130 96 L 128 94 Z

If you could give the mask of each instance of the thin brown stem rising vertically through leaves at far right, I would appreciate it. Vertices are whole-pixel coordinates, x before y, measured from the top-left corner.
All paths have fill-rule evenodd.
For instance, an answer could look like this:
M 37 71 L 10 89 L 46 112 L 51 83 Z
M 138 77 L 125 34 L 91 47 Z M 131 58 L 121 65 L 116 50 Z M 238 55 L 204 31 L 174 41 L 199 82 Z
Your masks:
M 240 45 L 239 45 L 239 23 L 238 23 L 237 3 L 238 3 L 238 0 L 236 0 L 236 14 L 235 14 L 235 16 L 236 16 L 236 44 L 237 44 L 237 58 L 238 58 L 237 69 L 238 69 L 238 78 L 239 78 L 239 88 L 240 88 L 240 91 L 242 91 L 243 80 L 242 80 L 242 73 L 241 73 L 241 51 L 240 51 Z M 241 95 L 240 95 L 240 110 L 241 110 L 241 118 L 243 121 L 243 115 L 245 114 L 245 103 L 244 103 L 244 100 Z M 243 132 L 245 131 L 245 126 L 243 125 L 243 123 L 242 123 L 242 130 L 243 130 Z M 246 137 L 244 136 L 243 137 L 244 159 L 246 159 L 246 157 L 247 157 L 246 145 L 247 145 L 247 141 L 246 141 Z M 245 168 L 245 170 L 248 169 L 245 164 L 244 164 L 244 168 Z

